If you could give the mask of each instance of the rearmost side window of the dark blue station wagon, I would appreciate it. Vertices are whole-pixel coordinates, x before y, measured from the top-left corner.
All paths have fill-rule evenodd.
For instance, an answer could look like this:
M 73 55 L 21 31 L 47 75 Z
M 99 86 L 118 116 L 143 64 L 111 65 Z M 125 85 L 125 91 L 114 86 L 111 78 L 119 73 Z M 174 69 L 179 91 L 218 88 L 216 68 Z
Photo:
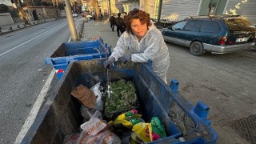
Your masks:
M 220 27 L 217 22 L 203 21 L 201 31 L 206 33 L 218 33 L 220 31 Z

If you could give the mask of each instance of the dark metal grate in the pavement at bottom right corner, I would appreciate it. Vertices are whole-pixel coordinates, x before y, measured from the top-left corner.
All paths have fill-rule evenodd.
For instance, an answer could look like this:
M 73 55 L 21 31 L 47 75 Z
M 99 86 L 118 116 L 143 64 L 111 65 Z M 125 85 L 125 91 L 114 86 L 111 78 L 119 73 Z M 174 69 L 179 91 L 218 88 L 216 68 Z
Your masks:
M 256 115 L 250 115 L 231 124 L 232 128 L 246 141 L 256 144 Z

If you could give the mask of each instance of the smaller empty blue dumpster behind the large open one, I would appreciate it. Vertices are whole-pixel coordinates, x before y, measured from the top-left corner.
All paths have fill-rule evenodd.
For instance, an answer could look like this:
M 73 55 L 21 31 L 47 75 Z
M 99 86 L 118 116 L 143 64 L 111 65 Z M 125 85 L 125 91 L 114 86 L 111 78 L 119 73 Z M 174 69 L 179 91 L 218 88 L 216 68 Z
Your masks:
M 102 38 L 82 42 L 64 42 L 50 55 L 50 58 L 45 59 L 45 64 L 53 66 L 58 79 L 61 79 L 71 61 L 106 58 L 106 52 L 110 56 L 110 47 L 103 42 Z

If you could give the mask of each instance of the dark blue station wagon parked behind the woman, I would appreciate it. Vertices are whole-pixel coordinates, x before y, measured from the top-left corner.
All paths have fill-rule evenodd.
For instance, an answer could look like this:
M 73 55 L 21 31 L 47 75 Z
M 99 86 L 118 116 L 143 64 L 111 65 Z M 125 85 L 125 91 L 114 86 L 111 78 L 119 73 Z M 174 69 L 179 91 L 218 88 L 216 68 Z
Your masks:
M 248 50 L 256 41 L 255 26 L 240 16 L 190 17 L 161 31 L 166 42 L 190 47 L 197 56 Z

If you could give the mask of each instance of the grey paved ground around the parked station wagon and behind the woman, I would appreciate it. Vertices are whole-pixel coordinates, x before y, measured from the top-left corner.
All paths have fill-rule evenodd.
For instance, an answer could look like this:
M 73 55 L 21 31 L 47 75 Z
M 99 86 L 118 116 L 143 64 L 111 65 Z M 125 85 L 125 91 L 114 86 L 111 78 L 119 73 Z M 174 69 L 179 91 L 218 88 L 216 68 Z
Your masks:
M 101 36 L 110 46 L 118 41 L 108 22 L 88 22 L 84 39 Z M 230 124 L 256 114 L 256 52 L 190 54 L 186 47 L 167 43 L 170 69 L 167 81 L 178 79 L 179 91 L 194 105 L 210 106 L 208 118 L 218 133 L 217 143 L 248 143 Z

